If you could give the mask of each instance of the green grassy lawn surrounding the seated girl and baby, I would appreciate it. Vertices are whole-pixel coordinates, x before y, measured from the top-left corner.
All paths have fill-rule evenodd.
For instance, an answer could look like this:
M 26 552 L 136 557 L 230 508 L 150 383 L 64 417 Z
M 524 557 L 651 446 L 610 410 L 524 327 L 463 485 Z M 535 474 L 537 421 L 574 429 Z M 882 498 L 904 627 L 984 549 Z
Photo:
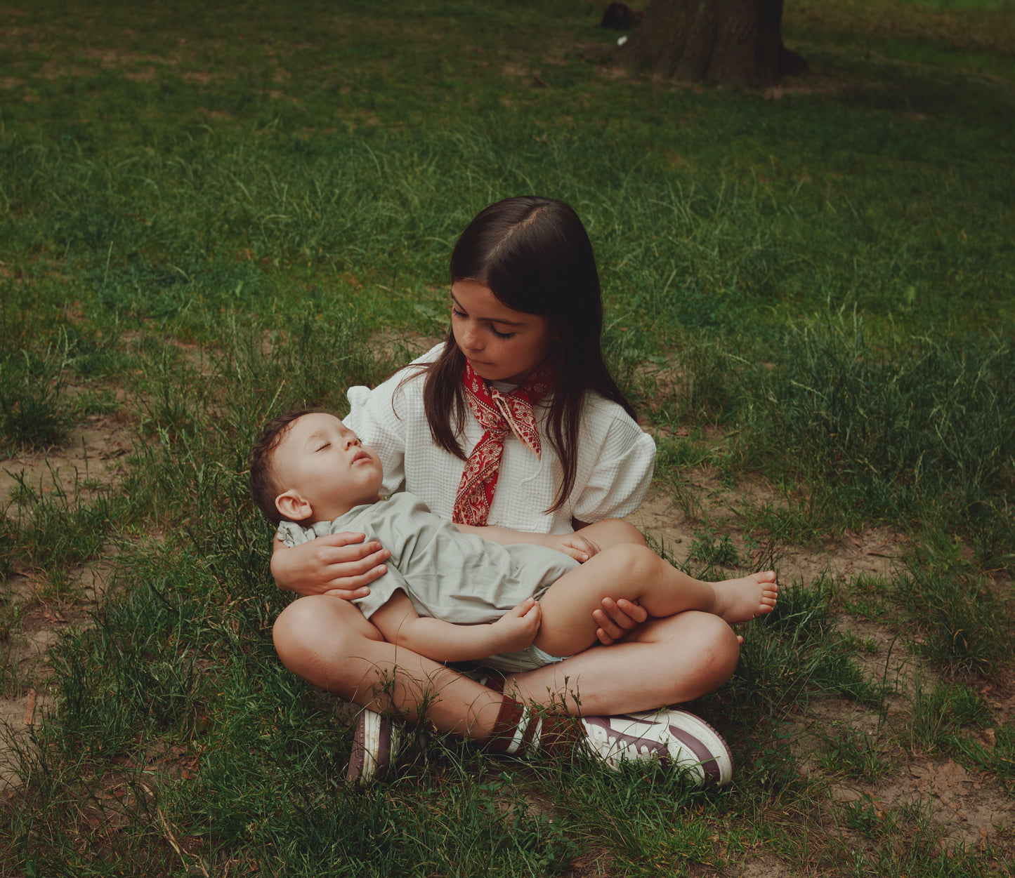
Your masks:
M 947 758 L 1015 789 L 991 694 L 1015 666 L 1013 13 L 796 0 L 812 74 L 762 96 L 614 75 L 580 0 L 0 10 L 0 462 L 89 416 L 135 437 L 113 487 L 0 498 L 0 688 L 54 693 L 12 739 L 0 872 L 1010 874 L 1010 831 L 942 848 L 878 785 Z M 589 228 L 608 355 L 693 534 L 675 563 L 783 570 L 871 527 L 902 546 L 883 573 L 784 574 L 745 627 L 694 706 L 727 790 L 426 730 L 351 789 L 347 722 L 274 655 L 254 437 L 341 414 L 439 335 L 457 234 L 522 193 Z M 26 678 L 23 630 L 113 546 L 112 596 Z

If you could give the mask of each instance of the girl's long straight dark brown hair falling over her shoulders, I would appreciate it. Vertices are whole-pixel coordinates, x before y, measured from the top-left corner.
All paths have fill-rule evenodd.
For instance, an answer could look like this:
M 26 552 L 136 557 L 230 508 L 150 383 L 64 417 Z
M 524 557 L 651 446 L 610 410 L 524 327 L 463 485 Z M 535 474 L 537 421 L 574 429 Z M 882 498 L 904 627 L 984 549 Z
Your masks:
M 451 254 L 451 282 L 476 281 L 509 308 L 550 318 L 554 391 L 546 439 L 563 468 L 547 511 L 559 509 L 574 487 L 579 428 L 589 391 L 634 410 L 603 358 L 603 301 L 592 242 L 578 214 L 561 201 L 509 198 L 480 211 Z M 469 417 L 462 385 L 465 356 L 449 330 L 444 353 L 429 366 L 423 405 L 433 441 L 466 459 L 459 441 Z

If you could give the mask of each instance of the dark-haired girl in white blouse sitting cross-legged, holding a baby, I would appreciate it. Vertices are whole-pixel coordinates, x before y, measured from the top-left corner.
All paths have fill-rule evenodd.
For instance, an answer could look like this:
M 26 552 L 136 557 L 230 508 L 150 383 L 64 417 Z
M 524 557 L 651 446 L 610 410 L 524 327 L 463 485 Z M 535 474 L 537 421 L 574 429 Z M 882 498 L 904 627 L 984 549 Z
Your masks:
M 444 344 L 375 390 L 349 391 L 346 423 L 380 454 L 384 490 L 409 490 L 467 526 L 542 533 L 580 531 L 633 511 L 652 479 L 655 446 L 605 366 L 599 277 L 573 210 L 532 197 L 489 206 L 456 244 L 451 281 Z M 629 538 L 644 543 L 633 528 Z M 357 721 L 350 777 L 384 765 L 397 738 L 371 711 L 425 717 L 513 752 L 574 733 L 549 718 L 530 722 L 526 705 L 580 716 L 577 733 L 608 762 L 646 755 L 686 762 L 692 753 L 715 780 L 732 777 L 725 742 L 692 715 L 617 716 L 691 701 L 724 683 L 739 644 L 718 616 L 688 611 L 646 621 L 640 607 L 604 601 L 605 611 L 594 614 L 604 645 L 509 673 L 501 692 L 396 650 L 355 606 L 335 599 L 368 593 L 364 585 L 385 572 L 383 547 L 355 544 L 362 539 L 338 534 L 293 548 L 276 541 L 272 558 L 280 587 L 307 595 L 275 623 L 280 658 L 368 709 Z M 594 553 L 580 532 L 572 540 L 579 560 Z

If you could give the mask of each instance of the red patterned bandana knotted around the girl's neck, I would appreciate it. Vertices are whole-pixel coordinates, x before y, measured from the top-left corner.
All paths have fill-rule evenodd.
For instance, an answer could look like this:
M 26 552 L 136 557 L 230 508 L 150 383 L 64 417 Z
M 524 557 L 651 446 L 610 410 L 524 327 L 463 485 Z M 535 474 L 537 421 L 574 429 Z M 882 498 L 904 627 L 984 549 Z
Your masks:
M 467 362 L 462 370 L 462 382 L 469 408 L 485 432 L 465 463 L 451 520 L 482 526 L 490 514 L 507 434 L 514 433 L 537 457 L 540 455 L 532 407 L 553 389 L 553 369 L 548 361 L 544 362 L 524 384 L 510 393 L 501 393 L 480 378 Z

